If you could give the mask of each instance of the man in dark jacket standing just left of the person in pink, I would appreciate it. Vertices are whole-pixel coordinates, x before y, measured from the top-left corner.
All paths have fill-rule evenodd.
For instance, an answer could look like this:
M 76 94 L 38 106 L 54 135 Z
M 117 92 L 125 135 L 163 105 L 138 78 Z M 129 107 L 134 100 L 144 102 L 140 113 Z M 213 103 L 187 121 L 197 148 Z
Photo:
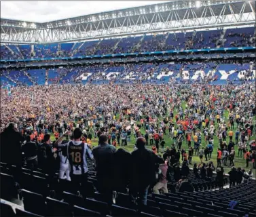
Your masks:
M 130 194 L 132 200 L 139 193 L 138 205 L 147 205 L 147 191 L 149 185 L 156 179 L 155 165 L 156 163 L 163 163 L 163 160 L 155 155 L 153 151 L 145 149 L 146 140 L 139 137 L 136 140 L 135 151 L 131 154 L 131 188 Z

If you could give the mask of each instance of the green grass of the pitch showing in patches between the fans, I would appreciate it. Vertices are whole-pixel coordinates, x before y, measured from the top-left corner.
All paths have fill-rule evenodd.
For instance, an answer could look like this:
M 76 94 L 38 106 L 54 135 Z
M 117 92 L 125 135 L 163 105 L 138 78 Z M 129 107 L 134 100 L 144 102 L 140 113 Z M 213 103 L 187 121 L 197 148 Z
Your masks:
M 185 102 L 183 102 L 183 108 L 185 109 Z M 174 114 L 174 116 L 176 115 L 176 113 Z M 117 115 L 118 117 L 118 115 Z M 228 118 L 228 111 L 225 111 L 225 121 L 227 121 Z M 254 117 L 255 119 L 255 117 Z M 161 119 L 159 119 L 160 121 Z M 174 121 L 175 123 L 175 121 Z M 233 132 L 236 131 L 236 123 L 234 123 L 234 130 Z M 215 129 L 217 127 L 217 121 L 215 121 Z M 166 130 L 166 134 L 168 132 L 168 129 Z M 141 127 L 141 133 L 145 134 L 145 130 L 143 129 L 143 127 Z M 233 138 L 234 139 L 234 138 Z M 55 140 L 54 136 L 52 135 L 52 140 Z M 164 135 L 164 140 L 166 142 L 166 146 L 171 146 L 171 144 L 173 144 L 173 140 L 171 138 L 168 137 L 168 135 Z M 255 135 L 251 136 L 250 140 L 255 140 Z M 229 142 L 229 138 L 227 138 L 227 144 Z M 98 144 L 98 139 L 92 140 L 92 146 L 96 146 Z M 119 149 L 120 147 L 122 147 L 123 149 L 125 149 L 126 151 L 132 152 L 134 150 L 134 144 L 135 144 L 135 138 L 133 136 L 133 134 L 131 135 L 131 141 L 128 142 L 127 146 L 117 146 L 117 149 Z M 204 134 L 202 134 L 202 146 L 206 146 L 207 144 L 205 144 L 204 141 Z M 191 140 L 191 146 L 194 147 L 194 142 L 193 140 Z M 186 141 L 183 140 L 182 143 L 182 147 L 186 150 L 186 152 L 188 153 L 188 146 L 186 144 Z M 151 146 L 147 146 L 148 149 L 151 149 Z M 217 138 L 217 136 L 214 136 L 214 146 L 213 146 L 213 153 L 212 153 L 212 158 L 208 161 L 204 161 L 205 158 L 203 158 L 203 161 L 205 163 L 209 162 L 209 161 L 213 161 L 214 165 L 217 165 L 217 149 L 219 148 L 219 139 Z M 236 157 L 234 159 L 234 163 L 235 163 L 235 167 L 242 167 L 245 170 L 249 170 L 249 169 L 253 169 L 253 164 L 250 162 L 249 163 L 249 167 L 246 168 L 246 161 L 243 158 L 237 157 L 238 155 L 238 147 L 235 146 L 234 147 L 235 151 L 236 151 Z M 162 153 L 160 153 L 162 155 Z M 193 167 L 194 163 L 200 163 L 200 158 L 198 156 L 194 156 L 192 159 L 192 164 L 191 167 Z M 230 164 L 230 161 L 227 160 L 227 165 Z M 224 166 L 223 163 L 221 163 L 221 165 L 224 167 L 225 173 L 230 171 L 230 166 Z

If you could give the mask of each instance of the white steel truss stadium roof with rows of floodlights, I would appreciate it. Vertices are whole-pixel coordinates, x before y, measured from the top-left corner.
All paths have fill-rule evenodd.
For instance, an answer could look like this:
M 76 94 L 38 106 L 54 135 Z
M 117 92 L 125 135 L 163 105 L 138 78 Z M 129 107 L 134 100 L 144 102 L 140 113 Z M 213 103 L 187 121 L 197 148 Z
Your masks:
M 1 41 L 52 43 L 246 24 L 255 24 L 255 0 L 170 1 L 43 23 L 1 18 Z

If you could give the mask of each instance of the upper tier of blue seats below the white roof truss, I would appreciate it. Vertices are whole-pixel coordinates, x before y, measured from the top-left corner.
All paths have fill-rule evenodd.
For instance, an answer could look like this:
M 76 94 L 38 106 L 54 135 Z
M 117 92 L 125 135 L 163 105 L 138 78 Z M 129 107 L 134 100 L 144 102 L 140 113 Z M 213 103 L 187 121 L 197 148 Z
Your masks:
M 242 32 L 242 31 L 245 31 Z M 224 43 L 221 39 L 228 43 Z M 136 38 L 136 37 L 135 37 Z M 160 35 L 144 35 L 143 37 L 128 37 L 124 39 L 109 39 L 109 40 L 95 41 L 95 43 L 88 43 L 88 46 L 83 45 L 75 47 L 73 50 L 61 50 L 58 44 L 52 45 L 35 45 L 34 52 L 31 52 L 31 47 L 24 47 L 24 45 L 17 45 L 19 52 L 12 51 L 1 45 L 1 59 L 16 60 L 22 58 L 57 58 L 69 56 L 91 56 L 91 55 L 105 55 L 105 54 L 120 54 L 120 53 L 134 53 L 134 52 L 155 52 L 165 50 L 189 50 L 189 49 L 203 49 L 215 47 L 249 47 L 255 44 L 255 31 L 253 28 L 242 28 L 240 32 L 237 29 L 224 34 L 224 31 L 206 31 L 194 33 L 164 33 Z

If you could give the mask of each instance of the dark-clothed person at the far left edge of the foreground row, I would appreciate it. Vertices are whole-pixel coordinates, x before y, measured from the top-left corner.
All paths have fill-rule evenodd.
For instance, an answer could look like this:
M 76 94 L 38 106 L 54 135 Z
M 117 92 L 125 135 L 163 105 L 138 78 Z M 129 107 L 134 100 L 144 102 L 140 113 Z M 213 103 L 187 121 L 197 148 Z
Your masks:
M 16 165 L 21 168 L 22 150 L 21 143 L 24 138 L 18 132 L 16 123 L 9 123 L 5 130 L 0 134 L 1 141 L 1 162 Z

